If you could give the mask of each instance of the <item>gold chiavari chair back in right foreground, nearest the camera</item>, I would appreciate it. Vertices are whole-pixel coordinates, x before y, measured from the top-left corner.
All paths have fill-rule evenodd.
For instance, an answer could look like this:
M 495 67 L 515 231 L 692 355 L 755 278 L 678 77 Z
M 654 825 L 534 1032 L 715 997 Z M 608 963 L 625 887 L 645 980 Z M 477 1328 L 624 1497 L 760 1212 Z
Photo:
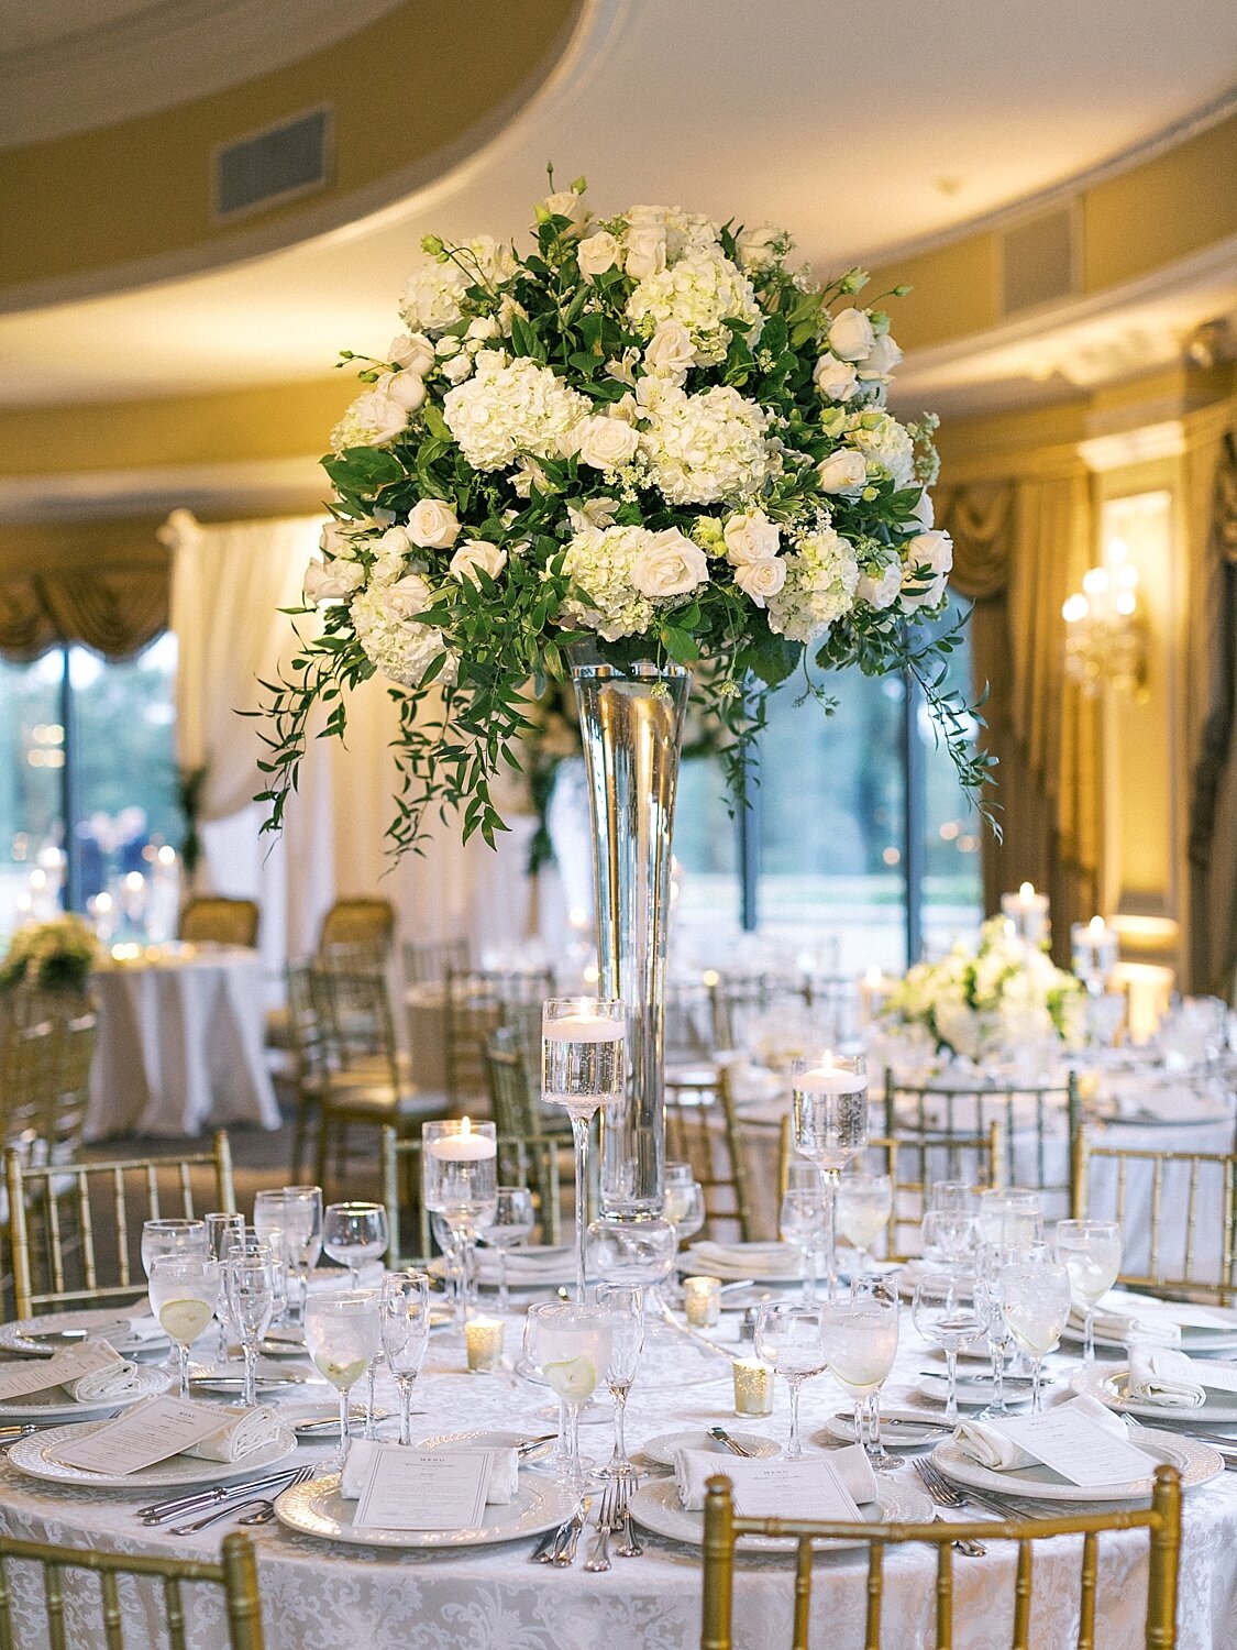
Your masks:
M 919 1543 L 937 1549 L 937 1650 L 950 1650 L 955 1638 L 953 1609 L 953 1543 L 1018 1543 L 1014 1577 L 1013 1630 L 1009 1650 L 1047 1650 L 1032 1640 L 1032 1582 L 1036 1543 L 1059 1536 L 1082 1536 L 1079 1579 L 1079 1634 L 1075 1650 L 1094 1650 L 1098 1600 L 1100 1534 L 1108 1530 L 1146 1530 L 1150 1536 L 1150 1576 L 1146 1591 L 1146 1650 L 1173 1650 L 1176 1645 L 1178 1569 L 1181 1561 L 1181 1478 L 1173 1467 L 1156 1467 L 1151 1505 L 1110 1513 L 1079 1513 L 1067 1518 L 1003 1520 L 1001 1523 L 930 1523 L 879 1525 L 856 1533 L 854 1525 L 823 1523 L 803 1518 L 741 1518 L 734 1511 L 731 1480 L 709 1478 L 704 1502 L 704 1600 L 701 1612 L 701 1650 L 736 1650 L 734 1559 L 742 1536 L 780 1536 L 795 1541 L 795 1602 L 792 1650 L 808 1650 L 811 1617 L 811 1561 L 816 1541 L 861 1541 L 868 1549 L 868 1584 L 864 1617 L 864 1650 L 881 1650 L 881 1607 L 884 1602 L 886 1548 Z M 1054 1592 L 1057 1591 L 1054 1577 Z M 991 1620 L 993 1600 L 983 1596 L 985 1619 Z M 991 1634 L 991 1629 L 990 1629 Z M 985 1635 L 985 1645 L 998 1650 L 998 1640 Z M 887 1650 L 892 1650 L 886 1640 Z M 1062 1642 L 1052 1650 L 1065 1650 Z

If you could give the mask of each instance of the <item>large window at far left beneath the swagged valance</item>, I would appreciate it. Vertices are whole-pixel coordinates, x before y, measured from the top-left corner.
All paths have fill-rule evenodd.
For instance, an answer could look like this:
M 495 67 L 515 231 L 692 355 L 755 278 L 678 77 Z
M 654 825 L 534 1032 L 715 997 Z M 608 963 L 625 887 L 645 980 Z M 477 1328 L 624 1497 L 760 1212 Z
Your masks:
M 172 635 L 124 663 L 84 647 L 0 662 L 0 932 L 115 899 L 180 843 L 175 668 Z

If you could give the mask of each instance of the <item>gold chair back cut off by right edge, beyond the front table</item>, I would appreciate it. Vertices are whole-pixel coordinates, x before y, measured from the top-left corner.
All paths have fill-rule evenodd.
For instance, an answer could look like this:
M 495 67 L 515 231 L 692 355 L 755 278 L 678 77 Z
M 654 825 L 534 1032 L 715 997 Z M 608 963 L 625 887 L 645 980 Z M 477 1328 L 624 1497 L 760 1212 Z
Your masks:
M 1103 1208 L 1094 1208 L 1092 1168 L 1112 1165 L 1115 1175 L 1113 1196 Z M 1150 1214 L 1143 1224 L 1130 1213 L 1131 1181 L 1141 1180 L 1150 1193 Z M 1150 1185 L 1148 1185 L 1150 1183 Z M 1140 1200 L 1141 1201 L 1141 1200 Z M 1207 1208 L 1199 1204 L 1206 1201 Z M 1143 1270 L 1123 1269 L 1117 1282 L 1126 1289 L 1146 1289 L 1155 1294 L 1202 1295 L 1227 1307 L 1237 1299 L 1234 1287 L 1234 1262 L 1237 1262 L 1237 1152 L 1153 1152 L 1133 1147 L 1097 1145 L 1090 1130 L 1079 1129 L 1074 1142 L 1074 1203 L 1075 1219 L 1113 1219 L 1122 1228 L 1123 1249 L 1146 1252 Z M 1214 1213 L 1212 1213 L 1214 1211 Z M 1204 1229 L 1216 1233 L 1219 1216 L 1219 1264 L 1214 1277 L 1199 1275 L 1197 1233 L 1202 1218 Z M 1171 1219 L 1181 1242 L 1173 1242 L 1179 1264 L 1164 1261 L 1166 1219 Z M 1214 1249 L 1212 1249 L 1214 1254 Z M 1125 1262 L 1123 1262 L 1125 1264 Z M 1211 1267 L 1209 1267 L 1211 1269 Z

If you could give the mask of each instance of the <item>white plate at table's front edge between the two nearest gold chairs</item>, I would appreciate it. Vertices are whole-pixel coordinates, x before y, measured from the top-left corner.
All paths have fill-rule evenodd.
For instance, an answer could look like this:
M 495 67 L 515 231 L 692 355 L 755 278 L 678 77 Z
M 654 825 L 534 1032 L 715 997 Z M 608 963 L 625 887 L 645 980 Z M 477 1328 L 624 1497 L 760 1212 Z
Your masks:
M 516 1498 L 506 1506 L 487 1506 L 473 1530 L 358 1530 L 356 1502 L 340 1495 L 340 1475 L 297 1483 L 275 1500 L 275 1518 L 289 1530 L 322 1541 L 378 1548 L 462 1548 L 493 1546 L 544 1534 L 576 1511 L 576 1493 L 553 1478 L 520 1477 Z

